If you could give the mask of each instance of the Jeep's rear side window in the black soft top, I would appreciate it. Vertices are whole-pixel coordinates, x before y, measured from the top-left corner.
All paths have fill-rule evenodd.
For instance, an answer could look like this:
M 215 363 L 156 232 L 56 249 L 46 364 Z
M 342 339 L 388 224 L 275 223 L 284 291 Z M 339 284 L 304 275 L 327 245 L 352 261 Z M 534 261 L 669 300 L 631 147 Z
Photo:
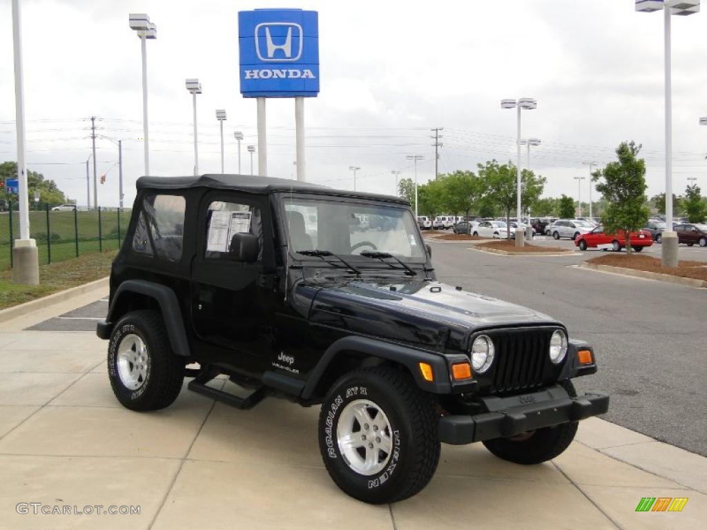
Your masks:
M 186 201 L 181 195 L 146 195 L 135 228 L 133 252 L 165 261 L 179 261 L 185 206 Z

